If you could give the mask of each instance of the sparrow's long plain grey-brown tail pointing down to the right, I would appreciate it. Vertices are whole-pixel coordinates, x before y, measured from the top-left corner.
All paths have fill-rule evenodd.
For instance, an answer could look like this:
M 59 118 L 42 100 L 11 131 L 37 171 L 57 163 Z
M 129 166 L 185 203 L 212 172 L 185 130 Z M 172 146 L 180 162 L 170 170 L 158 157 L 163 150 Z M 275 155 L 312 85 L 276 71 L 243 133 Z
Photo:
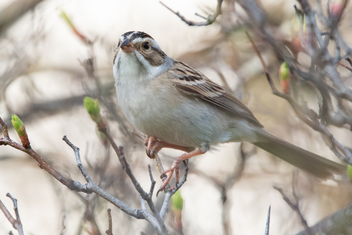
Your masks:
M 332 178 L 333 174 L 347 171 L 344 165 L 290 144 L 264 130 L 257 134 L 258 141 L 253 142 L 254 145 L 320 179 Z

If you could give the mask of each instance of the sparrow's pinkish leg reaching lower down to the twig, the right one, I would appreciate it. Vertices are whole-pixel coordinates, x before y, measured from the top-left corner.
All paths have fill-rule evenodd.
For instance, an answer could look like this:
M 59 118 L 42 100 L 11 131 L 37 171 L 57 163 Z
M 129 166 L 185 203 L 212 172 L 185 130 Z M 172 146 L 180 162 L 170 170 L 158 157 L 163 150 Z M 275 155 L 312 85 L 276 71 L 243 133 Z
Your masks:
M 164 172 L 162 172 L 161 176 L 164 176 L 166 175 L 167 173 L 169 173 L 168 177 L 166 178 L 166 180 L 163 182 L 163 184 L 160 186 L 158 192 L 160 192 L 161 190 L 164 189 L 164 187 L 166 186 L 166 184 L 168 184 L 170 182 L 170 179 L 172 177 L 172 174 L 174 174 L 174 171 L 175 171 L 175 176 L 176 176 L 176 187 L 178 185 L 178 173 L 179 173 L 179 170 L 180 170 L 180 163 L 181 161 L 184 161 L 184 160 L 187 160 L 191 157 L 194 157 L 194 156 L 197 156 L 197 155 L 200 155 L 200 154 L 203 154 L 205 153 L 206 151 L 205 150 L 202 150 L 202 149 L 197 149 L 197 150 L 194 150 L 192 152 L 189 152 L 189 153 L 184 153 L 182 154 L 180 157 L 177 157 L 177 158 L 174 158 L 174 160 L 172 160 L 172 165 L 170 166 L 169 169 L 166 169 Z

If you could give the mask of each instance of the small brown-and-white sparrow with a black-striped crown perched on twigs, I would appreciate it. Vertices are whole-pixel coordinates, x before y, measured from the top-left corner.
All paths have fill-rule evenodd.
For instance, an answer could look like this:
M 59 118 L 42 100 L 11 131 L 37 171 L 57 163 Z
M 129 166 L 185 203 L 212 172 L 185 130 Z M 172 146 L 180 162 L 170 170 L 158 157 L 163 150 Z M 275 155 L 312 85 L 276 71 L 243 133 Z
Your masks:
M 159 191 L 174 172 L 177 186 L 183 160 L 225 142 L 251 142 L 323 180 L 346 169 L 266 132 L 230 91 L 191 66 L 168 57 L 145 32 L 130 31 L 120 36 L 113 75 L 122 113 L 147 136 L 147 155 L 152 158 L 152 153 L 163 147 L 185 152 L 162 172 L 162 176 L 169 174 Z

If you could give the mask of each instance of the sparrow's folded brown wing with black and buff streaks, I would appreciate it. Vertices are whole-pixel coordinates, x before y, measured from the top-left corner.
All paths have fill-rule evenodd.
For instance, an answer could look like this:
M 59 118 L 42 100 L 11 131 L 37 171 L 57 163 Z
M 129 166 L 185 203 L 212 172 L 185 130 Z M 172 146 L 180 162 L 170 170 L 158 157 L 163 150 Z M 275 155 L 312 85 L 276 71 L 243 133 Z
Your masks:
M 239 99 L 220 85 L 209 80 L 199 71 L 176 60 L 171 70 L 179 75 L 172 79 L 172 83 L 178 90 L 187 95 L 193 95 L 213 103 L 235 115 L 248 119 L 259 127 L 263 127 L 259 121 L 254 118 L 251 111 Z

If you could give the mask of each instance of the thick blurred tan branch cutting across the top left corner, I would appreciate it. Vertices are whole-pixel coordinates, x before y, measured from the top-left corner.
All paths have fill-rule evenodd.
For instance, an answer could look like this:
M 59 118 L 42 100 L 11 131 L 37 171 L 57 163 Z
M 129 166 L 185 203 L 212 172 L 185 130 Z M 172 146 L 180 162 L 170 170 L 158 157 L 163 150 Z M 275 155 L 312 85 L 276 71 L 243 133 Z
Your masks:
M 0 11 L 0 36 L 22 15 L 33 9 L 43 0 L 15 0 Z

